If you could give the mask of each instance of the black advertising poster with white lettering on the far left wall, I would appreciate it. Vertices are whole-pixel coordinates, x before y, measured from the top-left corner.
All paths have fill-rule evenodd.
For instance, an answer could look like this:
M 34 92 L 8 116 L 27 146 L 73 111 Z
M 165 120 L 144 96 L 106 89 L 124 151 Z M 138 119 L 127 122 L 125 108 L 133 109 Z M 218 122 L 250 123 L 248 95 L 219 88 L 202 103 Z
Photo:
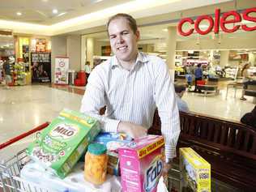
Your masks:
M 31 53 L 32 83 L 51 82 L 50 58 L 50 53 Z

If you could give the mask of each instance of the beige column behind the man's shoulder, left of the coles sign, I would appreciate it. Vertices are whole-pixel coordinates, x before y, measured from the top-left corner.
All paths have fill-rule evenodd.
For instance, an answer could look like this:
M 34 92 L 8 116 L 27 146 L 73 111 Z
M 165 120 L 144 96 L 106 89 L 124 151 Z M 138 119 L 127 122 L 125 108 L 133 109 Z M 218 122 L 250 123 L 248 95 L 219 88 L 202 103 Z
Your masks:
M 167 37 L 167 51 L 166 51 L 166 62 L 169 66 L 169 70 L 174 80 L 174 70 L 175 70 L 175 51 L 176 51 L 176 41 L 177 41 L 177 28 L 169 27 L 168 28 L 168 37 Z

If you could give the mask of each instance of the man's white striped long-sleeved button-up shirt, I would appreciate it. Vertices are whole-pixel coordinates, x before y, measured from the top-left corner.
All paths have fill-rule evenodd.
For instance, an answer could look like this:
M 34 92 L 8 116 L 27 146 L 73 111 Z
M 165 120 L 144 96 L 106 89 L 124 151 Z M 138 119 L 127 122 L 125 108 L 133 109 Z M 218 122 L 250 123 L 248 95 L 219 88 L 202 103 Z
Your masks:
M 104 106 L 105 115 L 100 116 L 99 110 Z M 89 76 L 80 111 L 100 118 L 104 131 L 117 132 L 120 121 L 148 129 L 156 108 L 169 160 L 176 156 L 180 134 L 173 83 L 162 59 L 139 53 L 131 70 L 119 65 L 115 56 L 96 66 Z

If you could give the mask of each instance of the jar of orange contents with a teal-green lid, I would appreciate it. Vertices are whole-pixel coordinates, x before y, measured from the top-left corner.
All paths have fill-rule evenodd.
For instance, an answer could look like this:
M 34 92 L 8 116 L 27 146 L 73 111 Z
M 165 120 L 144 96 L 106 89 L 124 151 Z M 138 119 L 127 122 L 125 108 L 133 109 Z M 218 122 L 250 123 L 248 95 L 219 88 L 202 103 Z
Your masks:
M 84 161 L 84 178 L 96 185 L 106 180 L 108 156 L 107 148 L 100 143 L 89 145 Z

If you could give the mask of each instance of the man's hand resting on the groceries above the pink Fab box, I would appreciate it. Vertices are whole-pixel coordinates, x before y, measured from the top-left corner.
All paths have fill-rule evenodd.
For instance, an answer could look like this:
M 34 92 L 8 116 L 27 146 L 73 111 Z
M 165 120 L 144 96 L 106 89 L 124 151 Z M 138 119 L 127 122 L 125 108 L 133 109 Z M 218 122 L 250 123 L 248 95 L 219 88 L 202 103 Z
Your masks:
M 146 128 L 131 122 L 120 122 L 117 126 L 117 132 L 126 133 L 134 139 L 147 135 Z

